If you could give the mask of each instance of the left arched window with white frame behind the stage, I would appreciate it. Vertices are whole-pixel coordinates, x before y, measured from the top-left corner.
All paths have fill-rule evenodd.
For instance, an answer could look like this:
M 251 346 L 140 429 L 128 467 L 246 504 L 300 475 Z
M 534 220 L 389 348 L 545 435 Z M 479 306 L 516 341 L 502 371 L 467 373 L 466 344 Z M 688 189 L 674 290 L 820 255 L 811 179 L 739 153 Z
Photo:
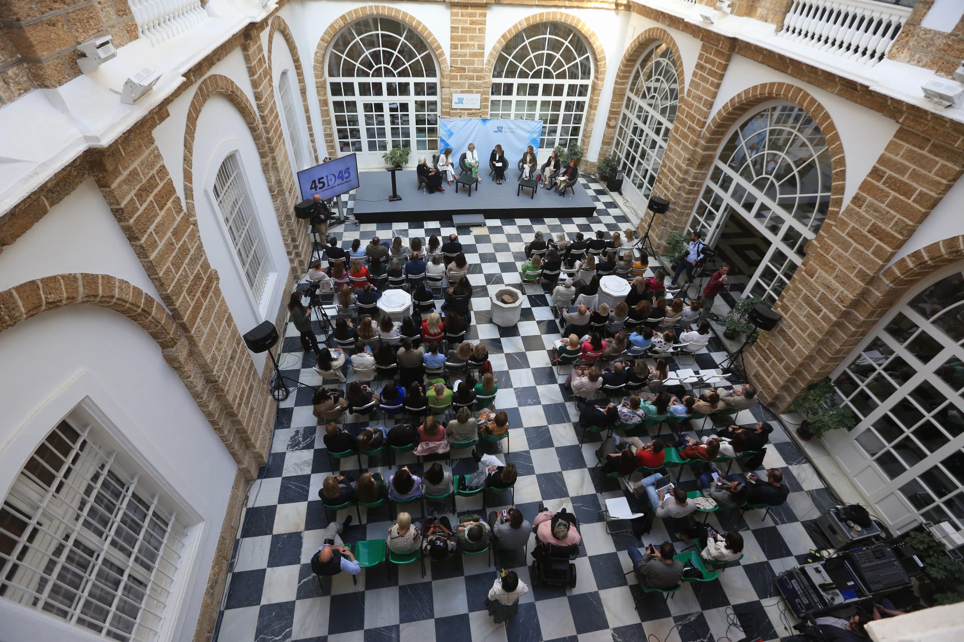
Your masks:
M 384 166 L 392 147 L 439 148 L 438 66 L 411 27 L 386 17 L 345 27 L 328 48 L 328 88 L 338 150 L 360 152 L 362 166 Z

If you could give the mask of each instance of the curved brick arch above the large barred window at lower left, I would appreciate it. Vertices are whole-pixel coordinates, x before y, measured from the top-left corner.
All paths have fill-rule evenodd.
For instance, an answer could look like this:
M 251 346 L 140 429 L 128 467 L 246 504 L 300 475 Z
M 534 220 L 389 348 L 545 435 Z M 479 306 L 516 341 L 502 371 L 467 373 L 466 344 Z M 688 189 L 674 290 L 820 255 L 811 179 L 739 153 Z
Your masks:
M 187 338 L 160 301 L 123 279 L 109 274 L 77 272 L 43 276 L 0 292 L 0 332 L 41 312 L 68 305 L 95 305 L 114 310 L 140 325 L 150 335 L 201 412 L 225 444 L 248 479 L 257 465 L 241 437 L 236 420 L 229 419 L 217 399 L 209 394 L 204 372 L 194 359 Z

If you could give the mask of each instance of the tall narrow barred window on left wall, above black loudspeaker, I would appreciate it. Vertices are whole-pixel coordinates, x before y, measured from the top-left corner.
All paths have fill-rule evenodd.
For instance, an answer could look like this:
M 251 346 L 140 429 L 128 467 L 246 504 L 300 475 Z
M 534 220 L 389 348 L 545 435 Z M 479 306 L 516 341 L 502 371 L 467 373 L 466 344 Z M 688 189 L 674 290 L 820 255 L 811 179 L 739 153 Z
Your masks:
M 254 300 L 260 304 L 268 282 L 268 251 L 264 235 L 254 214 L 251 190 L 244 177 L 241 157 L 234 152 L 218 168 L 214 179 L 214 198 L 225 219 L 228 236 L 234 244 L 238 262 L 251 287 Z

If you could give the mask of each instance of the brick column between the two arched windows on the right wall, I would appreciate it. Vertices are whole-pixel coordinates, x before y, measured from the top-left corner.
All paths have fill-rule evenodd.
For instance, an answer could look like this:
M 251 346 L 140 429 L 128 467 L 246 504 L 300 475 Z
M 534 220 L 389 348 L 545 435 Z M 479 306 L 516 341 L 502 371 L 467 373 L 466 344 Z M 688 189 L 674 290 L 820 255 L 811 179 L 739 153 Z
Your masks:
M 686 86 L 685 95 L 680 99 L 676 120 L 669 133 L 666 153 L 663 155 L 653 195 L 669 199 L 669 211 L 656 217 L 650 238 L 658 247 L 670 232 L 682 232 L 686 220 L 693 212 L 700 188 L 706 175 L 695 171 L 700 157 L 707 150 L 703 148 L 703 133 L 710 119 L 710 110 L 716 93 L 723 82 L 735 41 L 715 39 L 700 45 L 696 67 Z M 644 215 L 639 233 L 646 230 L 649 218 Z

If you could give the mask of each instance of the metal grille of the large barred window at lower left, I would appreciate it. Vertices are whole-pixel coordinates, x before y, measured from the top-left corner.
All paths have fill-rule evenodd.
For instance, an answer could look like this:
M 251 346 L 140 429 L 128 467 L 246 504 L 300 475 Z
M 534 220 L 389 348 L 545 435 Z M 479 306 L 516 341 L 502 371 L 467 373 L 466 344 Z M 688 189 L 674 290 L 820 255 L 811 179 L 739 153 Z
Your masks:
M 186 531 L 90 426 L 61 422 L 0 507 L 0 596 L 112 640 L 157 639 Z

